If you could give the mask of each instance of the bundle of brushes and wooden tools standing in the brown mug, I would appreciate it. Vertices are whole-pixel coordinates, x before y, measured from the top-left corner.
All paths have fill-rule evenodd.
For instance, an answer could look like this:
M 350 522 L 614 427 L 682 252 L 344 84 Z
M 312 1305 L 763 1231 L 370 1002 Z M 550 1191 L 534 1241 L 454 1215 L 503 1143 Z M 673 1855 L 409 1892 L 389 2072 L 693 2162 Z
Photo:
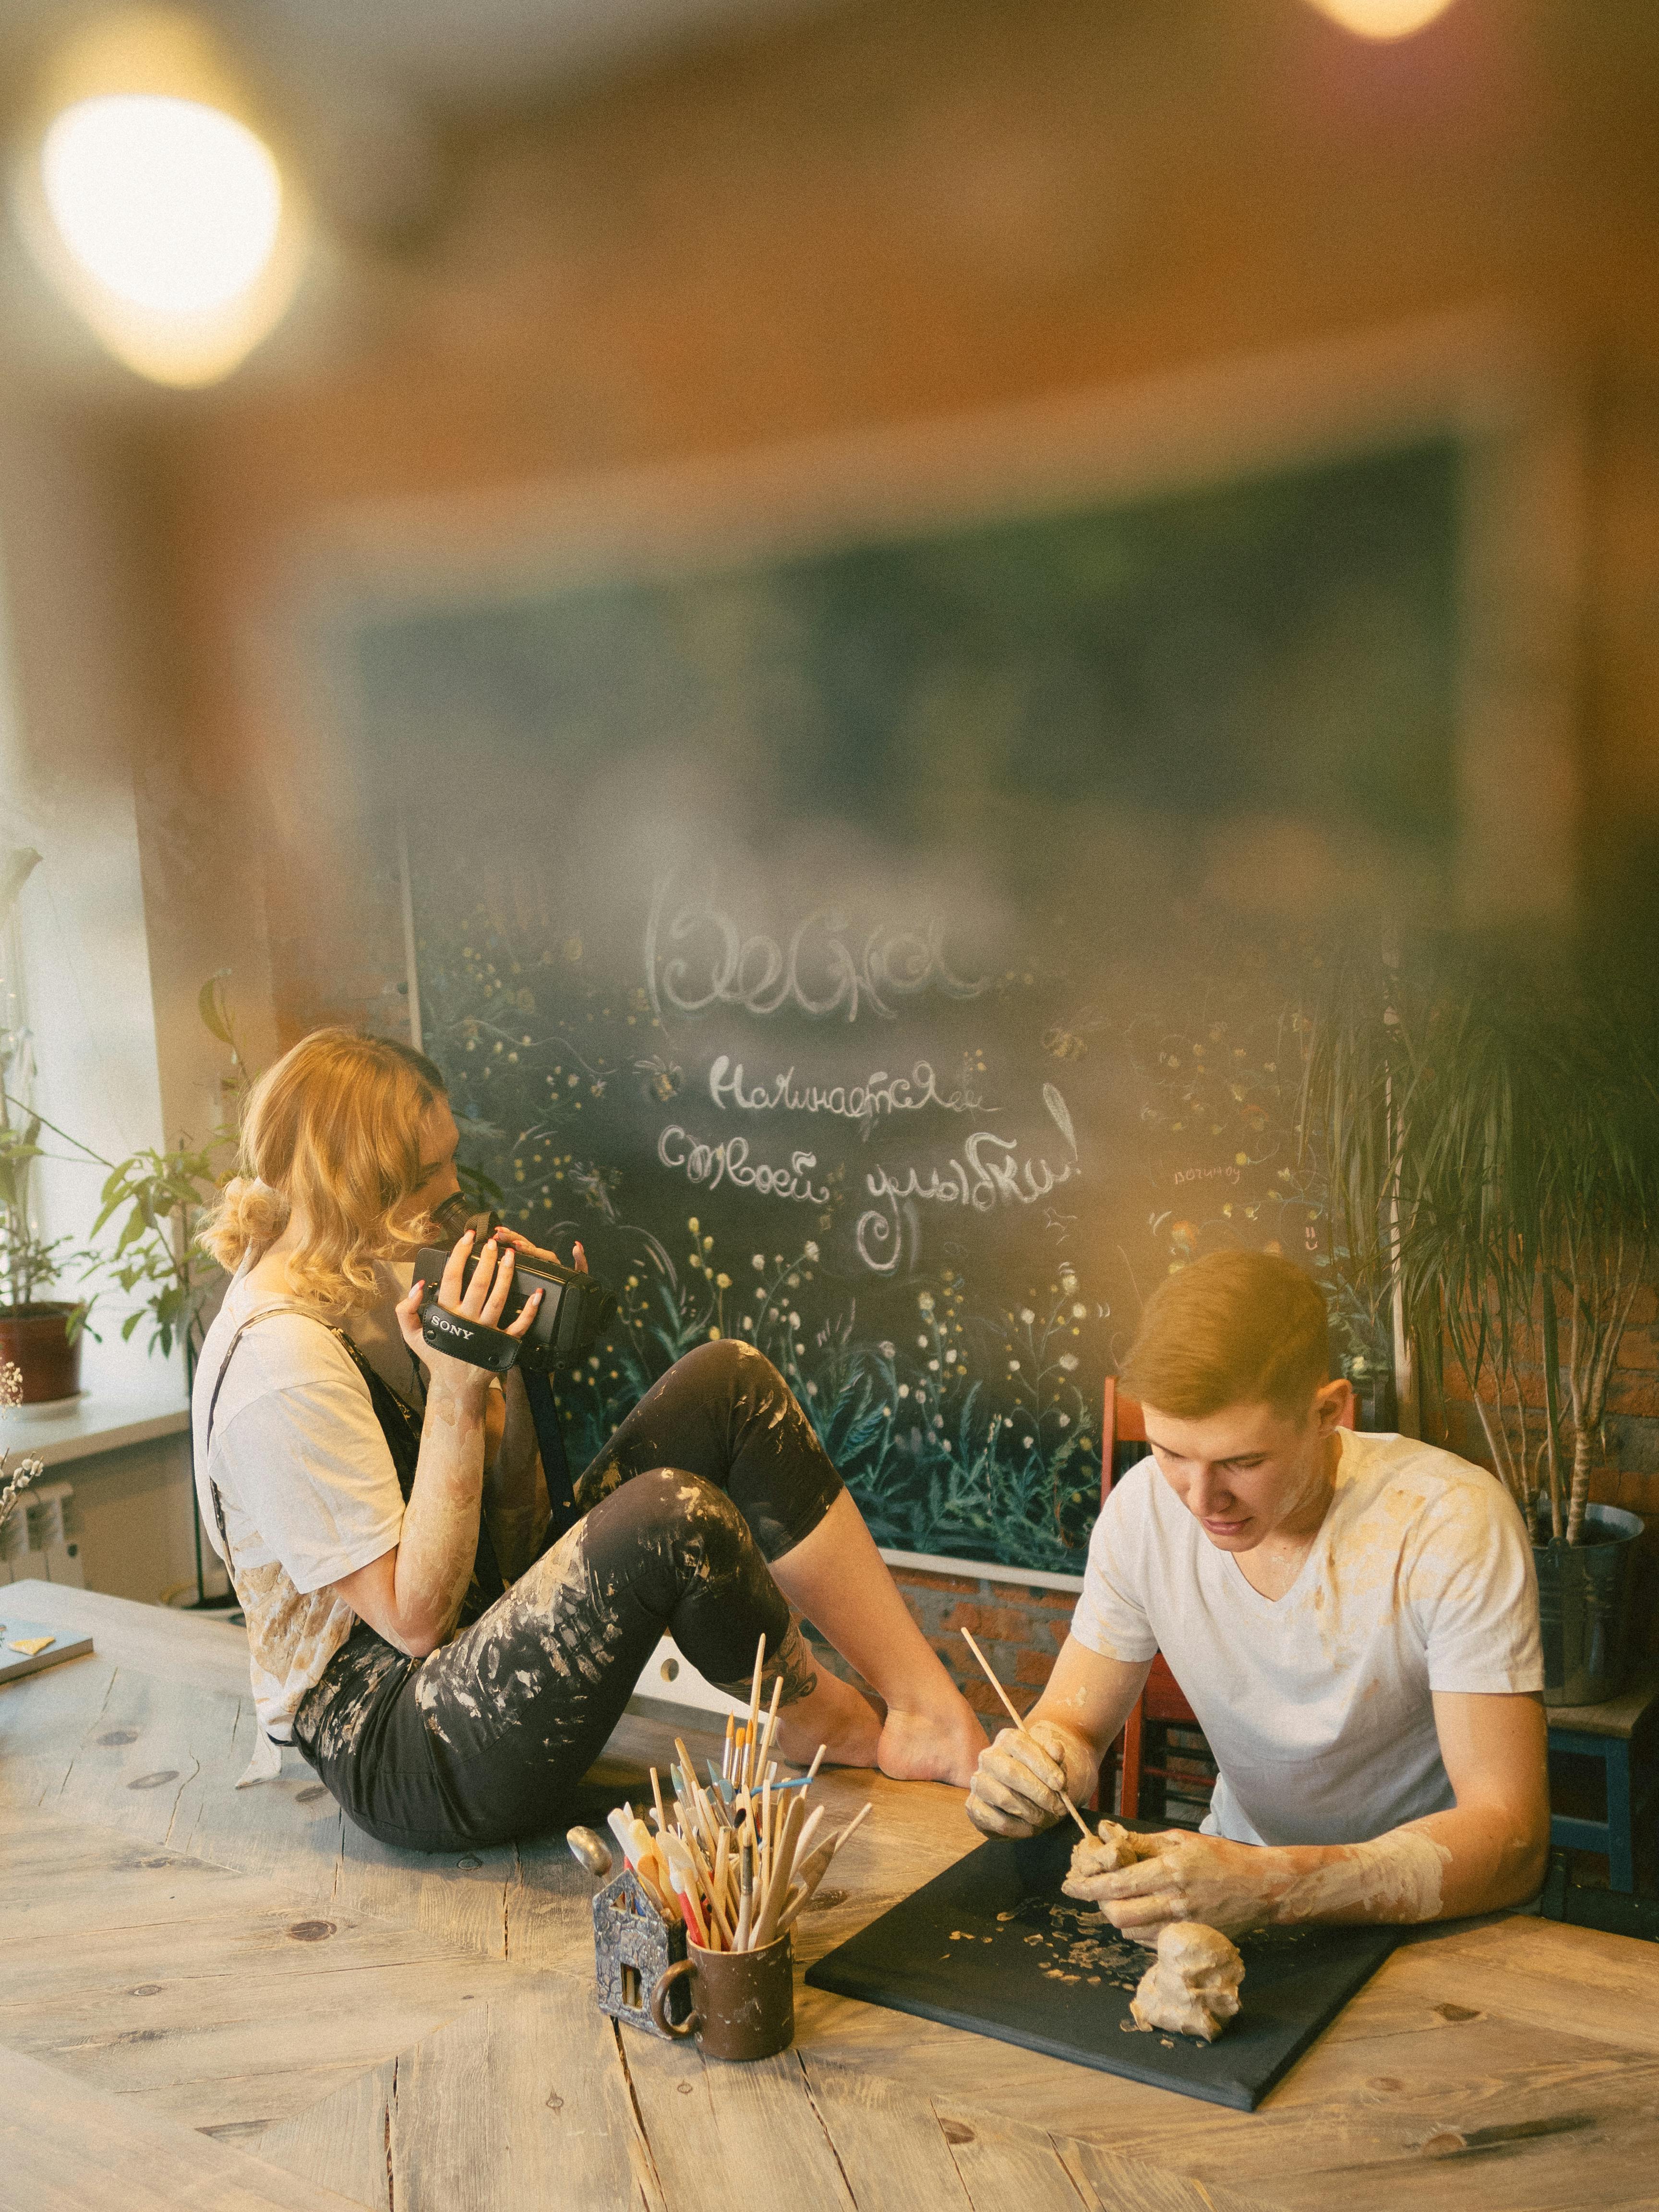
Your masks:
M 719 1772 L 708 1761 L 708 1787 L 675 1736 L 679 1765 L 668 1770 L 668 1794 L 657 1767 L 650 1770 L 655 1829 L 630 1805 L 611 1814 L 611 1832 L 644 1891 L 666 1920 L 684 1920 L 703 1951 L 761 1951 L 783 1936 L 869 1814 L 865 1805 L 847 1827 L 818 1840 L 825 1809 L 807 1809 L 807 1792 L 823 1745 L 807 1774 L 779 1781 L 772 1736 L 783 1679 L 761 1723 L 763 1657 L 765 1637 L 754 1655 L 748 1721 L 739 1728 L 728 1719 Z

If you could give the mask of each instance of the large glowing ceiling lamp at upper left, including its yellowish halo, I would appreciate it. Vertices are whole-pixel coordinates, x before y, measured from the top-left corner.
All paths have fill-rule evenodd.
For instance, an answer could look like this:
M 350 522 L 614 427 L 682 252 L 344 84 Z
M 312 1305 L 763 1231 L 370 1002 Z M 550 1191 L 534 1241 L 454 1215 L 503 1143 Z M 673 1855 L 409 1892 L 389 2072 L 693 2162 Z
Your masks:
M 226 376 L 294 296 L 303 199 L 186 15 L 135 11 L 75 40 L 15 184 L 46 274 L 157 383 Z

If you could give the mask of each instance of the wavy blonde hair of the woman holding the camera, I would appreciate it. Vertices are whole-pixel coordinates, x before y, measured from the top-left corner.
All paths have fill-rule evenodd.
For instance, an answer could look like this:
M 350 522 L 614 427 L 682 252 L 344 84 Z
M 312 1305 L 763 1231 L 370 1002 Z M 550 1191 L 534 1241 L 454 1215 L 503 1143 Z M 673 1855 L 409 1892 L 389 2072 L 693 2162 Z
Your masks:
M 248 1093 L 239 1172 L 201 1243 L 234 1270 L 299 1208 L 310 1241 L 288 1263 L 294 1294 L 343 1312 L 367 1305 L 374 1263 L 425 1228 L 409 1201 L 422 1183 L 420 1124 L 442 1091 L 438 1068 L 407 1044 L 314 1029 Z

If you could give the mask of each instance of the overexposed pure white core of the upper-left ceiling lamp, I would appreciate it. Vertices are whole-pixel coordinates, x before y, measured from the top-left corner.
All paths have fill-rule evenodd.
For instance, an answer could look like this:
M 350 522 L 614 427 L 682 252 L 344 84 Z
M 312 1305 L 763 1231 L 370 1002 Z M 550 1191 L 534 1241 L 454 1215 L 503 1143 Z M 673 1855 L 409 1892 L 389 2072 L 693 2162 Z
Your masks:
M 46 131 L 40 177 L 75 261 L 150 314 L 228 307 L 276 250 L 283 184 L 270 148 L 195 100 L 82 100 Z

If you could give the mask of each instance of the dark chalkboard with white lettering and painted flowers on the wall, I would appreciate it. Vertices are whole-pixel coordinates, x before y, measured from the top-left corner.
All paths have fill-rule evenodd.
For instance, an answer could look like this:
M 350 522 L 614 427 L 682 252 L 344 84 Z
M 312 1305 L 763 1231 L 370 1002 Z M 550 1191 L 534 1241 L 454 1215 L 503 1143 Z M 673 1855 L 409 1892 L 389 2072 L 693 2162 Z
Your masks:
M 1433 442 L 356 617 L 469 1159 L 622 1298 L 577 1451 L 741 1336 L 878 1542 L 1079 1571 L 1146 1290 L 1321 1265 L 1296 975 L 1444 867 L 1455 540 Z

